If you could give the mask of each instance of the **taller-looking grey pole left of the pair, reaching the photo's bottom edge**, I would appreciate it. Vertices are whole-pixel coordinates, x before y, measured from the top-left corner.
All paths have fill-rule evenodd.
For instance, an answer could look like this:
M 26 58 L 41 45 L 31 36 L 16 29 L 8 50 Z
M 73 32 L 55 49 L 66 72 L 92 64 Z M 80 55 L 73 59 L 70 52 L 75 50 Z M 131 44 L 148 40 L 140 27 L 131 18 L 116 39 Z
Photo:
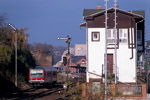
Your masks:
M 107 100 L 107 1 L 105 0 L 105 100 Z

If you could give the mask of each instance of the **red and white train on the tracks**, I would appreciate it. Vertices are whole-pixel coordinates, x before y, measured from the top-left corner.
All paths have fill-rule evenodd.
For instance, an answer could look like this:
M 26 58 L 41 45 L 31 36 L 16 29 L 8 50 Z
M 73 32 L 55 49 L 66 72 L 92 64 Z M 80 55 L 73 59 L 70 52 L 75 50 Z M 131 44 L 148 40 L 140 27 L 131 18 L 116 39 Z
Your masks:
M 57 82 L 57 68 L 38 66 L 29 69 L 30 84 L 54 84 Z

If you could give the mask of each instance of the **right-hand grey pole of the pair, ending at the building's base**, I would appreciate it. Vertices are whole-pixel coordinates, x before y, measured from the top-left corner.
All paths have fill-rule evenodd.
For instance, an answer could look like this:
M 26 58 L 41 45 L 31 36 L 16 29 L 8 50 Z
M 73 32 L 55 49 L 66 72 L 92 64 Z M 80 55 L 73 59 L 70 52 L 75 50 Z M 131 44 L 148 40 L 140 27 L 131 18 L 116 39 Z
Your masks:
M 114 0 L 114 15 L 115 15 L 115 27 L 114 27 L 114 30 L 115 30 L 115 84 L 117 84 L 117 12 L 116 12 L 116 9 L 117 9 L 117 0 Z

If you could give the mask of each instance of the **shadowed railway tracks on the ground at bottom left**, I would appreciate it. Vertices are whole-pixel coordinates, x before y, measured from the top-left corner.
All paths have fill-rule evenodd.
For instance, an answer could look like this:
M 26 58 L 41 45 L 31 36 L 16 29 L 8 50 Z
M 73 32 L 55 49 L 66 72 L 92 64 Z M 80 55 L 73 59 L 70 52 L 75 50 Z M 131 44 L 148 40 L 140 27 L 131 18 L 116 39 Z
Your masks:
M 72 82 L 71 87 L 76 85 L 78 79 L 69 80 Z M 83 81 L 80 81 L 82 83 Z M 63 83 L 59 82 L 49 87 L 33 87 L 28 90 L 21 90 L 6 95 L 0 100 L 62 100 L 62 95 L 66 91 L 63 89 Z

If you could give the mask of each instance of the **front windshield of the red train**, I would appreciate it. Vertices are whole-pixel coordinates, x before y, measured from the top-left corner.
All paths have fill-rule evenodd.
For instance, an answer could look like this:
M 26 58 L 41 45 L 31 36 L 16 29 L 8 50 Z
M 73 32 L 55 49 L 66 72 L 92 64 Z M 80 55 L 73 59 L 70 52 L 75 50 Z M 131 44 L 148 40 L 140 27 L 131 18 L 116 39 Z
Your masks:
M 31 78 L 43 78 L 43 70 L 31 70 Z

